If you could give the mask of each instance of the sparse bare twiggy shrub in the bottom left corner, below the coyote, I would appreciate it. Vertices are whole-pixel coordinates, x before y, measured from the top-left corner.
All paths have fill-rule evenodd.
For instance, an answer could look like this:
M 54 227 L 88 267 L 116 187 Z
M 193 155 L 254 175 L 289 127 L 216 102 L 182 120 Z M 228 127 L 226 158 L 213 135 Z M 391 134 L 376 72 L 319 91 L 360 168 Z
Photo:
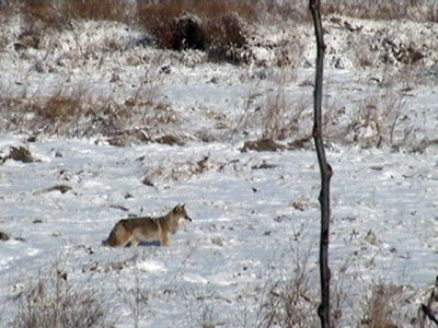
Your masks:
M 106 308 L 90 286 L 73 288 L 67 273 L 41 273 L 18 298 L 16 328 L 106 327 Z

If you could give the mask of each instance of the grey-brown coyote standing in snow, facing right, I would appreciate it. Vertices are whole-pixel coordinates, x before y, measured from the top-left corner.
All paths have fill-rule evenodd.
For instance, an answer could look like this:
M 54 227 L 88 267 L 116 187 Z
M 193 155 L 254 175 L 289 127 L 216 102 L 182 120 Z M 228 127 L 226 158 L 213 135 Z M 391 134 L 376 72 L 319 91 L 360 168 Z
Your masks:
M 160 245 L 171 245 L 171 236 L 181 224 L 192 219 L 187 215 L 185 204 L 177 204 L 168 214 L 160 218 L 124 219 L 114 225 L 105 244 L 112 247 L 124 247 L 130 243 L 137 246 L 142 241 L 160 242 Z

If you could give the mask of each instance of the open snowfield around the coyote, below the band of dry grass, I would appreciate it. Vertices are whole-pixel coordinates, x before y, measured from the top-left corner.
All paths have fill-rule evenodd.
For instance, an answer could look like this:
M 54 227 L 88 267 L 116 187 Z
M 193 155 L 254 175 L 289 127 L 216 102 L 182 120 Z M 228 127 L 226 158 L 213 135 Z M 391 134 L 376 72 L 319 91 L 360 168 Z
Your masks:
M 20 139 L 3 136 L 1 142 Z M 148 293 L 171 289 L 176 293 L 172 300 L 154 295 L 148 306 L 154 313 L 162 302 L 169 303 L 175 312 L 172 318 L 154 313 L 152 321 L 145 321 L 164 327 L 181 323 L 186 312 L 178 301 L 186 297 L 182 292 L 209 291 L 228 300 L 215 301 L 215 311 L 238 315 L 244 304 L 256 304 L 252 290 L 265 283 L 265 272 L 291 267 L 295 251 L 309 250 L 314 268 L 319 235 L 314 153 L 240 153 L 238 148 L 222 143 L 115 148 L 58 138 L 33 143 L 33 152 L 51 156 L 50 161 L 7 161 L 2 165 L 2 230 L 23 241 L 4 242 L 1 248 L 1 297 L 8 300 L 18 292 L 16 283 L 24 284 L 32 272 L 50 266 L 62 254 L 69 279 L 79 285 L 91 280 L 105 294 L 114 292 L 114 283 L 129 285 L 131 274 L 139 276 Z M 62 157 L 54 157 L 53 150 Z M 181 172 L 177 180 L 168 178 L 148 187 L 141 184 L 143 168 L 137 161 L 142 154 L 149 154 L 148 165 L 166 166 L 210 154 L 214 163 L 226 168 L 188 176 Z M 438 251 L 434 192 L 438 179 L 435 171 L 430 172 L 437 164 L 430 165 L 430 155 L 348 149 L 331 151 L 328 159 L 335 171 L 330 244 L 334 277 L 348 261 L 347 277 L 353 282 L 347 279 L 346 283 L 384 277 L 389 281 L 404 278 L 417 288 L 430 284 L 437 273 Z M 238 161 L 237 167 L 227 164 L 232 161 Z M 263 161 L 275 168 L 251 168 Z M 71 178 L 66 180 L 66 173 Z M 72 190 L 35 194 L 61 181 Z M 295 201 L 304 210 L 295 209 Z M 174 236 L 171 247 L 132 250 L 101 245 L 114 223 L 128 213 L 160 215 L 183 202 L 194 221 Z M 33 223 L 35 220 L 41 223 Z M 134 262 L 129 261 L 132 251 L 138 254 Z M 97 273 L 85 269 L 89 262 L 104 266 L 117 261 L 127 262 L 126 267 Z M 108 302 L 115 305 L 120 300 Z M 129 326 L 129 318 L 118 324 Z

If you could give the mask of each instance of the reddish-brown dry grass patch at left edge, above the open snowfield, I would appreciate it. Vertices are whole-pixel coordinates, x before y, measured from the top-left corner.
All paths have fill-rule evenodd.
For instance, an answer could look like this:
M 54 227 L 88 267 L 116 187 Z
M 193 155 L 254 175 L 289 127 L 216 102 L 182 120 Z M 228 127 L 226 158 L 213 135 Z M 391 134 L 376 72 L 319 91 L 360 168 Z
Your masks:
M 66 137 L 104 136 L 115 144 L 151 141 L 162 137 L 170 125 L 184 120 L 183 115 L 161 101 L 160 77 L 141 83 L 132 96 L 117 101 L 99 97 L 84 85 L 59 86 L 51 95 L 39 96 L 24 90 L 20 95 L 0 96 L 2 127 L 10 131 L 27 131 Z M 132 127 L 136 126 L 136 129 Z

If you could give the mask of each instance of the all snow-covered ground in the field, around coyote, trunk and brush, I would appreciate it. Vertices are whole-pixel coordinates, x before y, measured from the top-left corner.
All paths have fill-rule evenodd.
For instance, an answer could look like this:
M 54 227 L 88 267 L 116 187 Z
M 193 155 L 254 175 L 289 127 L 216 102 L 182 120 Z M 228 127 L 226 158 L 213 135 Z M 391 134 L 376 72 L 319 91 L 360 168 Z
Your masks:
M 426 62 L 424 83 L 407 79 L 382 86 L 389 79 L 385 68 L 356 70 L 351 57 L 337 48 L 336 37 L 331 38 L 338 22 L 326 23 L 334 49 L 327 55 L 333 65 L 325 71 L 324 105 L 334 115 L 327 130 L 348 127 L 360 107 L 383 108 L 401 99 L 392 104 L 400 114 L 393 118 L 393 133 L 379 130 L 384 138 L 391 134 L 396 148 L 376 148 L 379 131 L 372 125 L 346 133 L 345 143 L 333 133 L 336 138 L 327 143 L 334 169 L 330 265 L 333 282 L 345 293 L 341 327 L 357 325 L 365 295 L 380 282 L 410 291 L 403 325 L 407 327 L 438 273 L 438 152 L 434 145 L 413 151 L 422 140 L 438 136 L 437 77 Z M 354 22 L 359 23 L 365 30 L 377 24 Z M 429 25 L 423 33 L 437 32 L 437 24 Z M 118 35 L 120 42 L 138 36 L 110 27 L 107 35 Z M 311 26 L 307 28 L 313 42 Z M 140 327 L 256 327 L 266 286 L 292 276 L 304 258 L 312 290 L 318 291 L 320 177 L 314 152 L 309 147 L 241 152 L 246 139 L 261 137 L 263 118 L 257 113 L 278 90 L 286 107 L 306 109 L 299 117 L 301 137 L 310 130 L 313 68 L 302 66 L 312 62 L 313 46 L 302 52 L 302 66 L 287 71 L 210 63 L 199 51 L 136 47 L 105 52 L 99 49 L 102 31 L 96 31 L 92 37 L 97 48 L 89 49 L 88 60 L 79 46 L 71 57 L 66 55 L 68 35 L 57 40 L 65 49 L 53 52 L 27 49 L 23 55 L 7 46 L 0 54 L 2 90 L 30 97 L 50 95 L 60 85 L 80 86 L 94 98 L 119 102 L 145 92 L 166 104 L 175 118 L 143 132 L 170 133 L 184 142 L 135 140 L 114 147 L 107 136 L 4 130 L 0 157 L 5 159 L 11 147 L 25 147 L 36 161 L 9 159 L 0 166 L 0 231 L 12 236 L 0 245 L 0 325 L 10 325 L 16 297 L 30 281 L 53 268 L 67 272 L 68 282 L 78 289 L 93 286 L 115 327 L 132 327 L 136 319 Z M 288 80 L 288 74 L 293 78 Z M 5 128 L 11 117 L 4 108 L 2 113 Z M 24 119 L 32 122 L 34 117 Z M 148 128 L 141 122 L 130 126 Z M 371 148 L 351 142 L 367 139 L 367 133 Z M 32 136 L 36 140 L 28 141 Z M 50 189 L 60 185 L 71 189 Z M 193 222 L 174 236 L 172 246 L 102 245 L 119 219 L 162 215 L 176 203 L 187 204 Z M 136 291 L 147 297 L 140 305 L 132 301 Z

